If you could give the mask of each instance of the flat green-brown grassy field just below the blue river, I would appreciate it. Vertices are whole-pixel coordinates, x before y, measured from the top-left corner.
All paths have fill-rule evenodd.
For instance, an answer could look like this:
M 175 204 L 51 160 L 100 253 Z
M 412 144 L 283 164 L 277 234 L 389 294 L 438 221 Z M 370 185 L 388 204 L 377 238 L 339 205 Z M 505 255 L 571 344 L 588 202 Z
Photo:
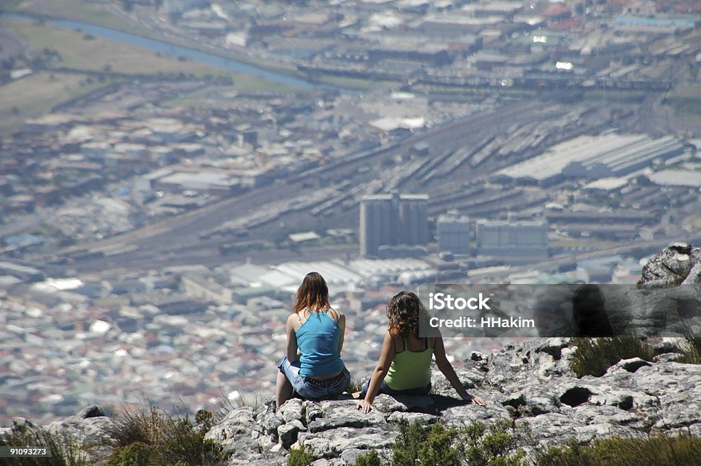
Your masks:
M 71 29 L 24 20 L 5 19 L 1 25 L 13 29 L 27 41 L 30 56 L 40 57 L 48 50 L 60 57 L 57 62 L 46 63 L 47 69 L 44 71 L 34 70 L 32 76 L 0 86 L 2 134 L 16 130 L 26 118 L 42 116 L 57 104 L 86 95 L 123 79 L 125 75 L 154 78 L 180 74 L 190 78 L 227 77 L 233 80 L 234 89 L 243 92 L 296 91 L 265 79 L 182 61 L 170 55 L 159 56 L 152 50 L 86 36 Z M 86 74 L 81 74 L 81 71 Z M 100 72 L 102 77 L 88 74 L 95 72 Z

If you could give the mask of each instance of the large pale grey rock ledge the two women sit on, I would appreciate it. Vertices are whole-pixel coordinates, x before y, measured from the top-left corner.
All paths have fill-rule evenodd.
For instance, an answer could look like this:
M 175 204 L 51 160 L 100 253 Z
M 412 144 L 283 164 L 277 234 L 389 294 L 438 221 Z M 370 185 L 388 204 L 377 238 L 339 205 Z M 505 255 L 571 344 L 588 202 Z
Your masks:
M 489 356 L 475 352 L 465 361 L 458 376 L 487 406 L 456 398 L 443 376 L 434 374 L 434 394 L 379 395 L 369 414 L 352 399 L 292 399 L 275 413 L 269 399 L 257 409 L 231 411 L 207 437 L 224 444 L 231 465 L 284 462 L 288 449 L 301 444 L 314 451 L 315 464 L 345 465 L 373 448 L 386 454 L 400 419 L 454 427 L 506 419 L 515 427 L 528 425 L 543 445 L 655 432 L 701 435 L 701 366 L 667 361 L 672 358 L 665 351 L 676 348 L 668 343 L 657 345 L 660 362 L 627 359 L 604 376 L 577 378 L 569 369 L 571 341 L 535 339 Z

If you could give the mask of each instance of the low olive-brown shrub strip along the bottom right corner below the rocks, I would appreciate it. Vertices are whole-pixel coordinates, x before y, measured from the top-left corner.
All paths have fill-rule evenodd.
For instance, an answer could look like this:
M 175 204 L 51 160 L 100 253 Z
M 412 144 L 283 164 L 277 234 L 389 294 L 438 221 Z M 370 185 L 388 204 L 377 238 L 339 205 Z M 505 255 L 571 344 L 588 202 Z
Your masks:
M 537 466 L 700 466 L 701 439 L 691 435 L 642 439 L 614 437 L 592 445 L 552 447 L 541 453 Z

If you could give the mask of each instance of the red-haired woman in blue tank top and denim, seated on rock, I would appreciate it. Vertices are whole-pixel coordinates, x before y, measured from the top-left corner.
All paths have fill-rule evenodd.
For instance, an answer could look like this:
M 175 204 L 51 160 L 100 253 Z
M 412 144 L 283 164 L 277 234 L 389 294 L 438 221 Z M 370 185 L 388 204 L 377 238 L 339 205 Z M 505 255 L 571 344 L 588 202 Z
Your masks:
M 287 350 L 278 362 L 278 408 L 292 398 L 293 390 L 306 399 L 323 399 L 348 388 L 351 374 L 341 360 L 346 316 L 329 305 L 329 289 L 319 273 L 304 277 L 285 331 Z

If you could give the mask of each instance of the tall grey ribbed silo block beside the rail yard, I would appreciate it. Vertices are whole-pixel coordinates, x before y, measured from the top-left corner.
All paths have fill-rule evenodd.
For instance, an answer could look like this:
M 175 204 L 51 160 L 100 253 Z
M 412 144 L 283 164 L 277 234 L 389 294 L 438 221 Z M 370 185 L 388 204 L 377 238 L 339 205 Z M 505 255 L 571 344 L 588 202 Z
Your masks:
M 360 201 L 360 254 L 377 256 L 380 246 L 428 243 L 428 195 L 378 194 Z

